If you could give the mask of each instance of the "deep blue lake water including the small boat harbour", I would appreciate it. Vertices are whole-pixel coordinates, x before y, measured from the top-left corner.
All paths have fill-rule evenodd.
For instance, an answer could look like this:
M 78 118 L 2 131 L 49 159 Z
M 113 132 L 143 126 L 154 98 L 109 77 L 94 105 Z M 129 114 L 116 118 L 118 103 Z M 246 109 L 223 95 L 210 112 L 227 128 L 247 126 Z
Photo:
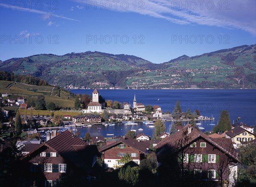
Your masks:
M 214 121 L 202 121 L 206 131 L 212 130 L 214 126 L 208 124 L 217 124 L 221 110 L 228 110 L 231 124 L 241 117 L 239 122 L 254 126 L 256 123 L 256 90 L 255 89 L 159 89 L 159 90 L 130 90 L 130 89 L 98 89 L 99 94 L 105 100 L 127 102 L 132 106 L 134 94 L 136 94 L 137 103 L 143 103 L 145 106 L 159 105 L 163 112 L 173 111 L 176 101 L 180 101 L 183 112 L 188 108 L 191 111 L 198 109 L 203 116 L 214 117 Z M 92 89 L 73 89 L 73 93 L 92 94 Z M 166 130 L 171 122 L 165 122 Z M 91 136 L 103 135 L 107 133 L 114 135 L 125 135 L 131 126 L 124 126 L 117 123 L 115 126 L 78 128 L 82 136 L 88 131 Z M 142 128 L 142 133 L 152 136 L 154 128 L 148 128 L 145 124 L 138 124 L 134 129 Z M 137 134 L 140 131 L 137 131 Z

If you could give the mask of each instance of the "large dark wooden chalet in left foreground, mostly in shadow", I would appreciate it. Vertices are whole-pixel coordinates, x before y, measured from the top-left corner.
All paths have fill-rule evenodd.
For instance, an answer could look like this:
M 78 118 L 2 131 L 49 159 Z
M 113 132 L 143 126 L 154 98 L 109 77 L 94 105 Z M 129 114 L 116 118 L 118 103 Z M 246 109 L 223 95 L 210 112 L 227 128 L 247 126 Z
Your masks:
M 79 186 L 96 175 L 93 166 L 97 156 L 100 153 L 95 145 L 87 145 L 72 132 L 64 131 L 20 159 L 20 181 L 22 186 L 33 181 L 37 186 Z

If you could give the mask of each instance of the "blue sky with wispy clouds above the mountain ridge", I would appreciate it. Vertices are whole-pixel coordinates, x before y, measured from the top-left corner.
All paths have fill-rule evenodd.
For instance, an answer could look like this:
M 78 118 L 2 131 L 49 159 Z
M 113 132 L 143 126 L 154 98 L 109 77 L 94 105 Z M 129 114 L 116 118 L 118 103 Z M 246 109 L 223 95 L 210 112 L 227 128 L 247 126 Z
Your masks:
M 0 1 L 0 60 L 99 51 L 163 63 L 256 43 L 256 1 Z

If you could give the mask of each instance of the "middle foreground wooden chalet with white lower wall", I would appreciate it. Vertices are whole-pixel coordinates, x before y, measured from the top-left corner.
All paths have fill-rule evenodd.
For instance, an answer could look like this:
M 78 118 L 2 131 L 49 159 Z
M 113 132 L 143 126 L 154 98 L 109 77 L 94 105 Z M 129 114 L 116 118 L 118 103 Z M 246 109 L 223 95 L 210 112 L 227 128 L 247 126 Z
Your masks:
M 148 153 L 148 148 L 148 144 L 144 141 L 137 141 L 131 137 L 124 136 L 118 141 L 99 148 L 99 152 L 102 153 L 105 167 L 116 168 L 123 165 L 119 160 L 125 154 L 129 154 L 135 163 L 140 164 L 140 161 L 145 158 L 145 154 Z

